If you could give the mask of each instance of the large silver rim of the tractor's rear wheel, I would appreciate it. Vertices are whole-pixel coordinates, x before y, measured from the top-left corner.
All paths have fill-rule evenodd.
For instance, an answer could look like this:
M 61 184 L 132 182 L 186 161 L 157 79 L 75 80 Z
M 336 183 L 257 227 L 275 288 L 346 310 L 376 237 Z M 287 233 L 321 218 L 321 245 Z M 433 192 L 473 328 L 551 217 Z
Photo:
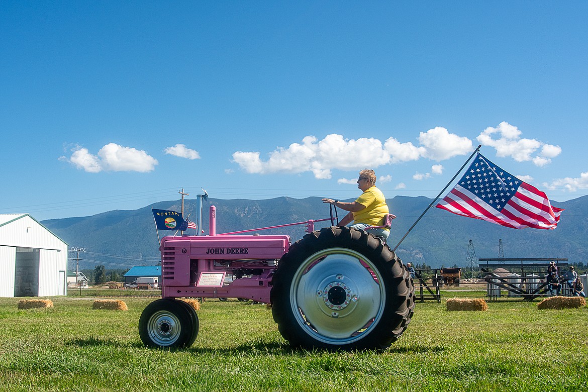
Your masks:
M 290 305 L 307 334 L 327 344 L 349 344 L 377 325 L 385 307 L 379 271 L 362 254 L 329 248 L 308 257 L 290 286 Z

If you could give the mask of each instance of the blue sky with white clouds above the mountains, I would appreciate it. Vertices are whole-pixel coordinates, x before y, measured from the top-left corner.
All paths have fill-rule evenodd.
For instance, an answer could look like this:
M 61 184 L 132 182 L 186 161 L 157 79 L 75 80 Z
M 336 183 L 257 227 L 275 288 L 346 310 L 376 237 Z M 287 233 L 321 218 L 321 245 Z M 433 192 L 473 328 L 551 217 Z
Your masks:
M 588 2 L 0 2 L 0 213 L 434 197 L 478 145 L 588 194 Z

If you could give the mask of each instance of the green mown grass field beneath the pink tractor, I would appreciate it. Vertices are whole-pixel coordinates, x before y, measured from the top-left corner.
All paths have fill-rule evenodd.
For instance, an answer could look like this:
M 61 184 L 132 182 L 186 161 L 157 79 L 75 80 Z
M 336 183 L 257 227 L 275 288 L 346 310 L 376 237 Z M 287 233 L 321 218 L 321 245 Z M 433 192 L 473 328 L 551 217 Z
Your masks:
M 51 300 L 53 308 L 18 310 L 18 299 L 0 299 L 0 390 L 588 390 L 586 307 L 538 310 L 510 300 L 448 312 L 445 300 L 419 303 L 384 353 L 332 354 L 290 349 L 263 304 L 207 301 L 195 344 L 169 351 L 139 340 L 152 298 L 125 298 L 128 311 Z

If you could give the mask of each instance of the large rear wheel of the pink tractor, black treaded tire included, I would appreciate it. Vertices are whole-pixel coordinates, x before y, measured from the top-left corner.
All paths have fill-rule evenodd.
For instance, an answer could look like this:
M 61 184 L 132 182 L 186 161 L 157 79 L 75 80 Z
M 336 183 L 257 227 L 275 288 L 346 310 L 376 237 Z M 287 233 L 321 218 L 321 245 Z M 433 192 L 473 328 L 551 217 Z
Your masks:
M 415 307 L 415 287 L 395 253 L 373 234 L 345 226 L 293 244 L 272 283 L 280 333 L 308 350 L 384 350 Z

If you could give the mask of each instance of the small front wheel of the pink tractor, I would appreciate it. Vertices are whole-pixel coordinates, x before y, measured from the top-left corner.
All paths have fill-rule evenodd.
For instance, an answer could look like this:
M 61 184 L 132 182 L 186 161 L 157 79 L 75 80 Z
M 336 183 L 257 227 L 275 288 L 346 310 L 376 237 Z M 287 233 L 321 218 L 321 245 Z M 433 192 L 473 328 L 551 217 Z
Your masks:
M 198 334 L 198 318 L 180 301 L 159 299 L 148 304 L 139 318 L 139 336 L 145 346 L 179 349 L 190 346 Z

